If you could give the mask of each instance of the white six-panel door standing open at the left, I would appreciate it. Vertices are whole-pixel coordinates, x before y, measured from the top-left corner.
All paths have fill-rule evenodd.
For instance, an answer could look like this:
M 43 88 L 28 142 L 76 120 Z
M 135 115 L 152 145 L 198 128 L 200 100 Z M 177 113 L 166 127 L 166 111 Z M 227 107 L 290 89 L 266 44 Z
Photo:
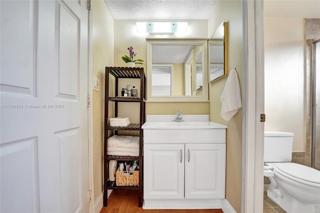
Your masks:
M 0 0 L 0 212 L 89 212 L 83 0 Z

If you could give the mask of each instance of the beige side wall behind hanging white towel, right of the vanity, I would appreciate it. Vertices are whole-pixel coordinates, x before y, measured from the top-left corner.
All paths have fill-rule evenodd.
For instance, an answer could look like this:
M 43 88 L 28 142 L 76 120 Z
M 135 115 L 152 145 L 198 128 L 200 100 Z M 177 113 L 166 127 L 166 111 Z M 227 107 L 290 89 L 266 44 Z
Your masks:
M 218 0 L 213 14 L 208 20 L 208 37 L 221 22 L 228 22 L 228 67 L 236 67 L 242 84 L 242 22 L 240 0 Z M 242 150 L 242 110 L 228 122 L 221 116 L 220 96 L 227 77 L 209 83 L 210 121 L 227 125 L 226 130 L 226 184 L 225 198 L 236 212 L 241 211 L 241 150 Z

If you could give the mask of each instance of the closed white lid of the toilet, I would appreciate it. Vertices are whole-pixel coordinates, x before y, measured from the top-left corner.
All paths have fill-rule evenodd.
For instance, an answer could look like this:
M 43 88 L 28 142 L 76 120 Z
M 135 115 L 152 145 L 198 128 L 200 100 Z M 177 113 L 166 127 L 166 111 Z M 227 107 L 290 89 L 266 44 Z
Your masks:
M 276 163 L 273 169 L 284 176 L 291 176 L 289 178 L 300 179 L 302 182 L 320 183 L 320 171 L 302 164 L 293 162 Z

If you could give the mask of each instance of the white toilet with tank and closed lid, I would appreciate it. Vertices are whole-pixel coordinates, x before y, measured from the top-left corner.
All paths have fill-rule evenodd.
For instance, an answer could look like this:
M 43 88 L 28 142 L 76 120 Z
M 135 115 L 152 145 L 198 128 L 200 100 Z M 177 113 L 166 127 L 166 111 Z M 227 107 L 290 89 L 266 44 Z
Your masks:
M 293 163 L 293 133 L 264 132 L 263 174 L 267 196 L 287 212 L 320 212 L 320 171 Z

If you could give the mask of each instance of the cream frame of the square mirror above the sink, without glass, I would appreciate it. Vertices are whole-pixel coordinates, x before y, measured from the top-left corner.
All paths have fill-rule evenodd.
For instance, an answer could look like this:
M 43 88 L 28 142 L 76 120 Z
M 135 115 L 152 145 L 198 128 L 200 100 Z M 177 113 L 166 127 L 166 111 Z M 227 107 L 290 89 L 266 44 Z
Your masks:
M 201 45 L 202 64 L 208 64 L 207 47 L 208 41 L 205 39 L 190 38 L 147 38 L 146 39 L 146 101 L 147 102 L 203 102 L 208 100 L 208 71 L 207 66 L 203 66 L 203 95 L 162 95 L 151 96 L 152 82 L 152 45 Z

